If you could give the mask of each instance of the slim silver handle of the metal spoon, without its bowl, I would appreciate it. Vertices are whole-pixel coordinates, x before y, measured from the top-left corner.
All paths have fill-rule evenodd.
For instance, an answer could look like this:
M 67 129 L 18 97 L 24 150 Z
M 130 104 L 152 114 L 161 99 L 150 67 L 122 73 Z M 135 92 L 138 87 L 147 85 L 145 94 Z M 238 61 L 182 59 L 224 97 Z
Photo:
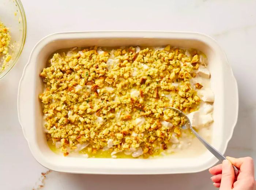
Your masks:
M 193 127 L 190 128 L 191 131 L 196 135 L 197 139 L 203 143 L 203 145 L 216 157 L 219 159 L 219 161 L 226 160 L 225 156 L 223 156 L 219 151 L 217 151 L 214 147 L 212 147 L 209 143 L 207 143 L 196 131 L 193 129 Z M 238 174 L 238 169 L 236 166 L 233 165 L 235 175 Z

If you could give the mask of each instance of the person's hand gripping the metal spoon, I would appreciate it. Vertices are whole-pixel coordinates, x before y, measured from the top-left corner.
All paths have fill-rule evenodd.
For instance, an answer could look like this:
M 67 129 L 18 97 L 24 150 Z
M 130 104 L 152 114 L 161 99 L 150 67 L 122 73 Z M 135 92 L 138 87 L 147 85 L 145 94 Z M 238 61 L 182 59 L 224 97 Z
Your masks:
M 219 190 L 256 190 L 256 182 L 254 179 L 254 164 L 251 157 L 232 158 L 226 157 L 222 164 L 209 169 L 214 175 L 211 180 L 215 187 Z M 240 168 L 238 175 L 235 176 L 232 164 Z

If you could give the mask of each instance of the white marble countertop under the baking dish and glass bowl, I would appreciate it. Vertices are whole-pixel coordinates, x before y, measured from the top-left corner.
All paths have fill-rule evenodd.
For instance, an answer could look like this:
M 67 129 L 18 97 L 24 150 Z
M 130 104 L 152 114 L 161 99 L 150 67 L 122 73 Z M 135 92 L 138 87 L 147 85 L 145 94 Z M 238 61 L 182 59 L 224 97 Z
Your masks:
M 0 0 L 1 2 L 1 0 Z M 144 3 L 143 3 L 144 2 Z M 256 1 L 31 1 L 22 0 L 27 39 L 14 69 L 0 81 L 0 184 L 6 190 L 215 189 L 208 171 L 178 175 L 78 175 L 50 172 L 38 164 L 18 122 L 18 82 L 30 51 L 53 32 L 176 30 L 212 36 L 225 50 L 238 82 L 239 116 L 226 155 L 256 159 Z M 254 138 L 253 138 L 254 137 Z

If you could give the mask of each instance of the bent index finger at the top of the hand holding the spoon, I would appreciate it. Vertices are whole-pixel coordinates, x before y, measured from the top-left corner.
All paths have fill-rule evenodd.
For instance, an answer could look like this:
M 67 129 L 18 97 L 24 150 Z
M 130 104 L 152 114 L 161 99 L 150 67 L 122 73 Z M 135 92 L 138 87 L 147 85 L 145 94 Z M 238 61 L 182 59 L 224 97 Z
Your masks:
M 240 168 L 240 172 L 248 174 L 254 178 L 254 163 L 251 157 L 245 158 L 232 158 L 227 156 L 227 159 L 234 164 L 234 166 Z

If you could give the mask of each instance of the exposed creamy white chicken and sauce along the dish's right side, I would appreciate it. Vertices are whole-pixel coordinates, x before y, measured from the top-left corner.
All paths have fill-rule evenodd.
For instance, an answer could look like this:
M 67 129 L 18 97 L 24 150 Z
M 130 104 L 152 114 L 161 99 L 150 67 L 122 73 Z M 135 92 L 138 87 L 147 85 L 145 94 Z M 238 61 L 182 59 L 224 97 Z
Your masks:
M 207 64 L 207 60 L 202 58 L 202 56 L 200 57 L 200 62 Z M 213 122 L 212 112 L 214 108 L 212 102 L 214 102 L 214 93 L 211 90 L 210 72 L 207 67 L 200 66 L 199 71 L 197 71 L 197 76 L 192 78 L 190 83 L 197 91 L 197 96 L 199 96 L 202 101 L 197 111 L 188 114 L 189 120 L 191 121 L 192 126 L 197 129 L 199 135 L 210 142 L 211 124 Z M 203 88 L 195 88 L 196 83 L 202 85 Z M 166 154 L 165 156 L 172 158 L 191 158 L 206 151 L 206 148 L 202 143 L 200 143 L 196 137 L 191 137 L 190 134 L 189 129 L 182 129 L 181 137 L 179 138 L 173 133 L 172 138 L 170 139 L 170 144 L 167 145 L 168 148 L 166 150 L 167 153 L 172 154 Z

